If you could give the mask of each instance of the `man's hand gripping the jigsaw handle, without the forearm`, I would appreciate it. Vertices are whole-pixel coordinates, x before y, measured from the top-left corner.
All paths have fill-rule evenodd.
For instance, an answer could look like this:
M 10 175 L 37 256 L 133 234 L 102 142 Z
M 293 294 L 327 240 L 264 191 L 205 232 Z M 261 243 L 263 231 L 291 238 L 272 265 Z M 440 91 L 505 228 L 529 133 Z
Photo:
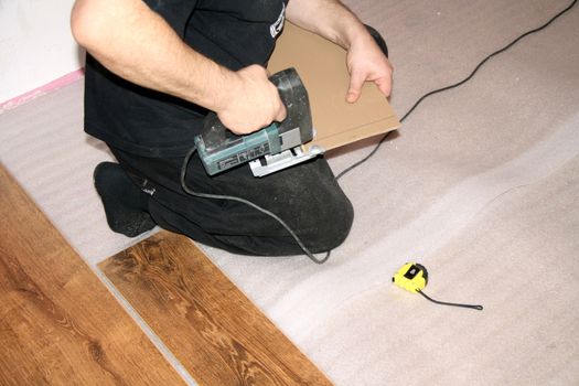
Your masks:
M 286 119 L 286 106 L 261 66 L 251 65 L 236 72 L 226 94 L 228 97 L 216 112 L 223 125 L 237 135 Z

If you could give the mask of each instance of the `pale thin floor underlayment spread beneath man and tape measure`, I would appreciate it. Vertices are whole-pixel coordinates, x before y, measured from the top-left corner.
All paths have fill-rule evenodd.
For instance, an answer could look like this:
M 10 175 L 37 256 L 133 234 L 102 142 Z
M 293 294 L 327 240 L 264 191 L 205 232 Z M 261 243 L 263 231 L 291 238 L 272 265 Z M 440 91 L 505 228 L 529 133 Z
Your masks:
M 350 0 L 386 37 L 401 116 L 569 1 Z M 341 184 L 347 240 L 307 257 L 208 256 L 336 385 L 579 384 L 579 7 L 425 100 Z M 345 90 L 344 90 L 345 92 Z M 82 82 L 0 115 L 1 162 L 93 266 L 136 243 L 92 185 Z M 337 173 L 375 141 L 331 156 Z M 143 235 L 146 237 L 147 235 Z M 404 292 L 409 260 L 427 293 Z

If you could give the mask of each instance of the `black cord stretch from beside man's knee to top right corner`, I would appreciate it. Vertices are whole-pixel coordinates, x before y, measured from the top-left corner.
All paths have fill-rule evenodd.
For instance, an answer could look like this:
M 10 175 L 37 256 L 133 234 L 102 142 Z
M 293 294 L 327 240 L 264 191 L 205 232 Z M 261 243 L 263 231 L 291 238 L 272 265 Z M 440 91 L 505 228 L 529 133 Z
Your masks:
M 493 52 L 492 54 L 490 54 L 489 56 L 486 56 L 484 60 L 482 60 L 478 65 L 476 67 L 474 67 L 474 69 L 472 71 L 472 73 L 470 73 L 469 76 L 467 76 L 464 79 L 460 81 L 460 82 L 457 82 L 452 85 L 449 85 L 449 86 L 446 86 L 446 87 L 441 87 L 441 88 L 438 88 L 438 89 L 435 89 L 432 92 L 429 92 L 425 95 L 422 95 L 420 97 L 420 99 L 418 99 L 414 106 L 403 116 L 403 118 L 400 119 L 400 122 L 404 122 L 406 118 L 408 118 L 408 116 L 410 116 L 410 114 L 412 114 L 412 111 L 418 107 L 418 105 L 420 105 L 422 103 L 422 100 L 425 100 L 426 98 L 435 95 L 435 94 L 439 94 L 439 93 L 443 93 L 443 92 L 447 92 L 449 89 L 452 89 L 452 88 L 457 88 L 459 86 L 462 86 L 463 84 L 465 84 L 467 82 L 469 82 L 470 79 L 472 79 L 472 77 L 474 76 L 474 74 L 476 74 L 479 72 L 479 69 L 487 62 L 490 61 L 493 56 L 496 56 L 505 51 L 507 51 L 508 49 L 511 49 L 513 45 L 515 45 L 516 43 L 518 43 L 518 41 L 521 41 L 522 39 L 533 34 L 533 33 L 536 33 L 536 32 L 539 32 L 540 30 L 544 30 L 545 28 L 547 28 L 550 23 L 553 23 L 555 20 L 559 19 L 561 15 L 564 15 L 565 13 L 567 13 L 571 8 L 575 7 L 575 4 L 577 3 L 577 0 L 573 0 L 566 9 L 564 9 L 562 11 L 560 11 L 559 13 L 557 13 L 555 17 L 553 17 L 549 21 L 547 21 L 545 24 L 540 25 L 540 26 L 537 26 L 536 29 L 534 30 L 530 30 L 530 31 L 527 31 L 525 33 L 523 33 L 521 36 L 518 36 L 517 39 L 515 39 L 514 41 L 512 41 L 511 43 L 508 43 L 507 45 L 505 45 L 504 47 L 502 47 L 501 50 L 497 50 L 495 52 Z M 382 146 L 382 143 L 384 143 L 384 141 L 386 141 L 386 139 L 388 139 L 388 137 L 392 135 L 393 131 L 389 131 L 387 132 L 384 137 L 382 137 L 382 139 L 378 141 L 378 143 L 374 147 L 374 149 L 366 156 L 364 157 L 362 160 L 357 161 L 356 163 L 350 165 L 349 168 L 344 169 L 340 174 L 336 175 L 336 180 L 340 180 L 342 176 L 344 176 L 344 174 L 349 173 L 350 171 L 352 171 L 353 169 L 360 167 L 362 163 L 366 162 L 368 159 L 371 159 L 375 153 L 376 151 L 378 151 L 379 147 Z

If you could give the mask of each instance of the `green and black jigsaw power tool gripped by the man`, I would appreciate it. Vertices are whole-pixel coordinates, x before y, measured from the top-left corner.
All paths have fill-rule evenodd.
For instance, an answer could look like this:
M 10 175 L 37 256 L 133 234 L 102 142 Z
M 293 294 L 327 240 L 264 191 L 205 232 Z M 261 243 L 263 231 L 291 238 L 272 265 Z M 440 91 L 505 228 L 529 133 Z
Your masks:
M 323 152 L 313 146 L 305 152 L 301 144 L 313 139 L 308 92 L 294 68 L 270 77 L 288 111 L 282 122 L 274 122 L 256 132 L 237 136 L 210 112 L 195 146 L 207 174 L 214 175 L 250 162 L 251 172 L 264 176 L 307 161 Z

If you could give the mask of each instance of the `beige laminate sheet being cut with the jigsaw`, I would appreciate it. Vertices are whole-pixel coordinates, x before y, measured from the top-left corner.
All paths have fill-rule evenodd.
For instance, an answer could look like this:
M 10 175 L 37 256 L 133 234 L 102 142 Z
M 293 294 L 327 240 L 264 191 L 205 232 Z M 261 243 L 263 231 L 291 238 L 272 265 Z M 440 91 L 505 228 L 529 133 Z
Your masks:
M 395 130 L 400 126 L 386 97 L 372 84 L 349 104 L 345 95 L 350 75 L 346 53 L 339 45 L 286 23 L 268 69 L 271 73 L 294 67 L 308 89 L 315 137 L 305 143 L 331 150 L 361 139 Z

